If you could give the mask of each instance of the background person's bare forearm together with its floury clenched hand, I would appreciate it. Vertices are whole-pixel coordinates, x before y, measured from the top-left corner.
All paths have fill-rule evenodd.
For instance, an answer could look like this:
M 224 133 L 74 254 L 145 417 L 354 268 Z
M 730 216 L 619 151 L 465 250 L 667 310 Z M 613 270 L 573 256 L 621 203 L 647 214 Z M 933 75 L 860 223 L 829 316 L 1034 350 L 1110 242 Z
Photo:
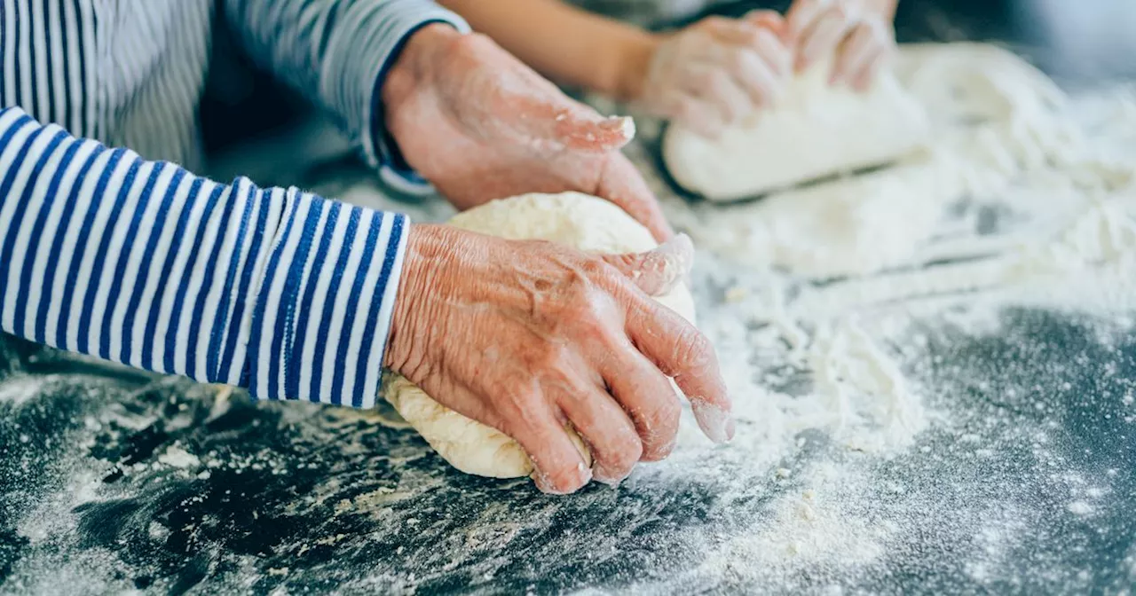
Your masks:
M 707 136 L 772 102 L 790 72 L 780 16 L 770 11 L 653 35 L 559 0 L 441 3 L 546 76 L 633 101 Z

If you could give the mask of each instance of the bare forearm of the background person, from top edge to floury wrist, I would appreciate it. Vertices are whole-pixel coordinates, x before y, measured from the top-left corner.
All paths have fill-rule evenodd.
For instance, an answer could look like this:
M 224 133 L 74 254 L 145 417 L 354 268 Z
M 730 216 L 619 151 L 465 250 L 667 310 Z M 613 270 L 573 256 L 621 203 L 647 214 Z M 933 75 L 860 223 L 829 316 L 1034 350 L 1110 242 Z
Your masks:
M 619 99 L 638 94 L 658 43 L 560 0 L 440 0 L 537 72 Z

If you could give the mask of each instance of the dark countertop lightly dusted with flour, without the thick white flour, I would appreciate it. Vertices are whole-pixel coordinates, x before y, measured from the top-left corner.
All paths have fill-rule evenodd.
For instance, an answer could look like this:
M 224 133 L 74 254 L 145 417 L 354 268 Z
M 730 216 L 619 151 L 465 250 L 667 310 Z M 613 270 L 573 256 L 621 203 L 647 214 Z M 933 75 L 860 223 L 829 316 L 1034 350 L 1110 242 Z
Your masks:
M 924 5 L 937 23 L 939 3 Z M 1130 324 L 999 317 L 988 333 L 933 320 L 908 331 L 926 342 L 904 371 L 951 415 L 899 454 L 805 430 L 807 447 L 774 467 L 718 450 L 568 497 L 461 475 L 362 415 L 252 404 L 0 338 L 0 591 L 1131 590 Z M 883 528 L 882 554 L 754 569 L 752 552 L 722 549 L 776 522 L 772 504 L 807 488 L 797 470 L 834 467 L 857 479 L 846 512 Z

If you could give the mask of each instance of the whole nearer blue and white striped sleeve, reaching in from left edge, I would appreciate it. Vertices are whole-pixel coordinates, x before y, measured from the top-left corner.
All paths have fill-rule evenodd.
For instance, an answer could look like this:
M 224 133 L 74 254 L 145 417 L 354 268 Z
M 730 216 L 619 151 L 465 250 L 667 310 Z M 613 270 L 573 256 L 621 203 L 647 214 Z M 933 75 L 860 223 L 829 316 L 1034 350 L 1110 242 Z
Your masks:
M 264 400 L 367 408 L 404 216 L 218 184 L 0 110 L 0 328 Z

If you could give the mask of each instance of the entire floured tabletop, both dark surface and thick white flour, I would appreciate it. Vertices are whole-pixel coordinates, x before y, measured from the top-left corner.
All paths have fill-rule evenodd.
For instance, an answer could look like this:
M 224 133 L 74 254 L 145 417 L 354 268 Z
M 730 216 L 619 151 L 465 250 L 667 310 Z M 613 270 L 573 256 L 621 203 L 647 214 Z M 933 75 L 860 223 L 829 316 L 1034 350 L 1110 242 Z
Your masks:
M 909 57 L 914 84 L 929 58 Z M 715 447 L 687 413 L 618 488 L 544 496 L 368 413 L 6 339 L 0 589 L 1130 591 L 1136 96 L 1055 106 L 1028 68 L 995 74 L 966 78 L 993 93 L 979 117 L 937 111 L 942 146 L 796 196 L 861 196 L 835 210 L 688 204 L 630 149 L 703 247 L 692 287 L 738 426 Z M 449 213 L 341 174 L 317 190 Z

